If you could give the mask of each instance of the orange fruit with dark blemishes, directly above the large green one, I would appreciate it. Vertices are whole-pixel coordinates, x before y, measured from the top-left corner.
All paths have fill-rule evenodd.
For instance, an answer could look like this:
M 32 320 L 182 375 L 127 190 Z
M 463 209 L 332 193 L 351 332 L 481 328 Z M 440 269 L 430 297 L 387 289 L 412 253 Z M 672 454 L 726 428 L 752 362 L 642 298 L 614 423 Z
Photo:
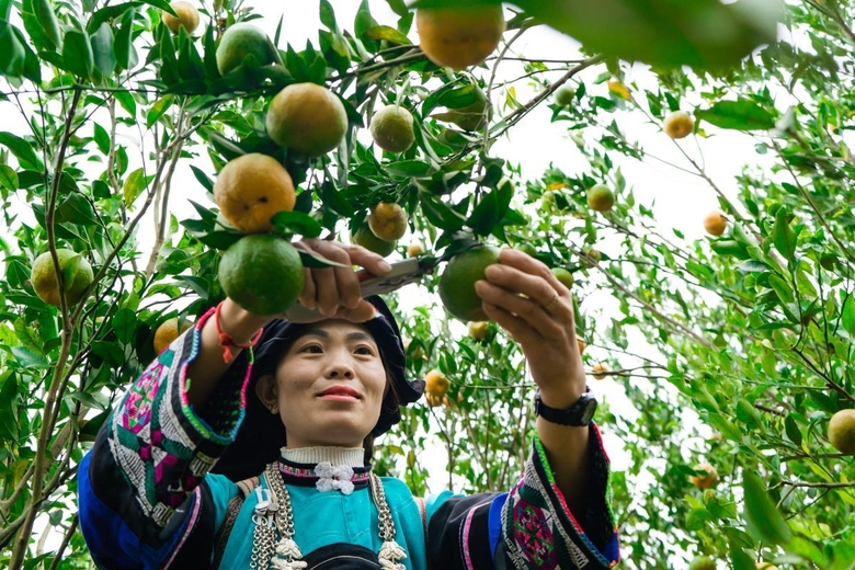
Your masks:
M 246 233 L 273 229 L 271 218 L 294 209 L 297 197 L 290 174 L 276 159 L 253 152 L 230 160 L 214 184 L 223 217 Z

